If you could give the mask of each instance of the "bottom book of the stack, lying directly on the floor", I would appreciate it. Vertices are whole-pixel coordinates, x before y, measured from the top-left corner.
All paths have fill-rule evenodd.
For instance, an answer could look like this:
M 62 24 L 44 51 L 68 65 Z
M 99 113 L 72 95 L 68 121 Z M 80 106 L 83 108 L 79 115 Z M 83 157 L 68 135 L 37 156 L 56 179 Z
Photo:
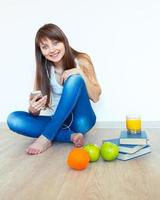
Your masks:
M 126 161 L 126 160 L 130 160 L 133 158 L 137 158 L 139 156 L 143 156 L 150 152 L 151 152 L 151 147 L 150 147 L 150 145 L 147 145 L 143 149 L 140 149 L 139 151 L 137 151 L 136 153 L 133 153 L 133 154 L 119 153 L 117 159 Z

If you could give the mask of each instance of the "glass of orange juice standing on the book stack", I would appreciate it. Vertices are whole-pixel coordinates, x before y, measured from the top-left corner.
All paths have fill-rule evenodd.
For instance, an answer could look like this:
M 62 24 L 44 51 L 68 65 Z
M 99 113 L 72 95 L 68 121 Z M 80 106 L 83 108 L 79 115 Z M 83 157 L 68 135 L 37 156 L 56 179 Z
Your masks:
M 139 115 L 127 115 L 126 116 L 126 128 L 129 133 L 141 132 L 141 117 Z

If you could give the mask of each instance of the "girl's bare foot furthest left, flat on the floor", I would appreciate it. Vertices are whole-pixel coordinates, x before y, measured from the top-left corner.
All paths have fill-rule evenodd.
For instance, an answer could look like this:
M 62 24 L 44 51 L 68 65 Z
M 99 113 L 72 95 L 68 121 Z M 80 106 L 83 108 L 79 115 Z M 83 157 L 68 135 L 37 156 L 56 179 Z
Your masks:
M 37 155 L 39 153 L 46 151 L 51 146 L 52 142 L 48 140 L 45 136 L 41 135 L 39 138 L 35 140 L 33 144 L 31 144 L 26 149 L 26 153 L 30 155 Z

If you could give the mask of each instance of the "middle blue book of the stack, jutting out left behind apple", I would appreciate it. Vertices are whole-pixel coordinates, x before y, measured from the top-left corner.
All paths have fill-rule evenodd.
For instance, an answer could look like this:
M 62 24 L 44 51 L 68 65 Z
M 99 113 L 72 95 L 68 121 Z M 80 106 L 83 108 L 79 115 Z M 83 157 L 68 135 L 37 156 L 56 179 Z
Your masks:
M 120 144 L 119 138 L 103 140 L 103 142 L 112 142 L 119 146 L 119 152 L 121 153 L 135 153 L 140 149 L 143 149 L 146 145 L 130 145 L 130 144 Z

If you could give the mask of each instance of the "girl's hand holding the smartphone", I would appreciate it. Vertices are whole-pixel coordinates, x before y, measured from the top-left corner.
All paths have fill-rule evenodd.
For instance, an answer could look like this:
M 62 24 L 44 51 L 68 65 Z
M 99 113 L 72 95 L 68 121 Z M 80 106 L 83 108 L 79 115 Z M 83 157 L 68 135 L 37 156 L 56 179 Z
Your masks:
M 29 99 L 29 112 L 33 115 L 37 115 L 45 107 L 47 102 L 47 95 L 41 97 L 39 94 Z

